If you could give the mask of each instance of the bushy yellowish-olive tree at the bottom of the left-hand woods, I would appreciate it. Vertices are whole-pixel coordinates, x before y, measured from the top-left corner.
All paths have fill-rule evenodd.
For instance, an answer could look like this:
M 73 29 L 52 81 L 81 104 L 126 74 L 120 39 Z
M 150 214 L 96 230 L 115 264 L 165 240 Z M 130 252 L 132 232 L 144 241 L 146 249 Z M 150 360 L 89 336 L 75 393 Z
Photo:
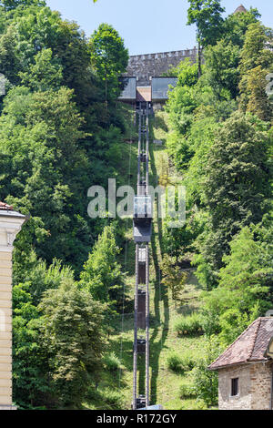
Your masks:
M 58 402 L 80 408 L 90 376 L 96 376 L 105 349 L 104 307 L 71 280 L 48 290 L 43 311 L 43 344 Z

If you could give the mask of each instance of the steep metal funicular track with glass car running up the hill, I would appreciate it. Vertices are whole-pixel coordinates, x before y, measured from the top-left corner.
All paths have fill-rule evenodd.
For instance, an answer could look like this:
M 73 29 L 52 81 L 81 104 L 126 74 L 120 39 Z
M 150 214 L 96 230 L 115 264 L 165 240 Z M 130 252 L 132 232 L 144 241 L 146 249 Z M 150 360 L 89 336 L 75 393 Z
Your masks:
M 149 195 L 149 117 L 151 103 L 138 103 L 137 196 L 134 203 L 134 239 L 136 242 L 136 288 L 134 313 L 133 410 L 149 406 L 149 242 L 152 233 L 152 202 Z M 146 336 L 139 336 L 145 330 Z M 137 360 L 146 354 L 146 393 L 137 392 Z

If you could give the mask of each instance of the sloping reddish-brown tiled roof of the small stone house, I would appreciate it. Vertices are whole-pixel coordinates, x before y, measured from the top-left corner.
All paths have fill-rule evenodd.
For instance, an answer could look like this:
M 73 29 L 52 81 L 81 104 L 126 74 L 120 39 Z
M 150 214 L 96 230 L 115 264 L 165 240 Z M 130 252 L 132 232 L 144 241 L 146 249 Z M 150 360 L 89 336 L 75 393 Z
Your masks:
M 234 341 L 215 362 L 209 370 L 218 370 L 230 365 L 247 362 L 266 362 L 264 356 L 268 343 L 273 337 L 273 318 L 264 317 L 252 322 L 236 341 Z

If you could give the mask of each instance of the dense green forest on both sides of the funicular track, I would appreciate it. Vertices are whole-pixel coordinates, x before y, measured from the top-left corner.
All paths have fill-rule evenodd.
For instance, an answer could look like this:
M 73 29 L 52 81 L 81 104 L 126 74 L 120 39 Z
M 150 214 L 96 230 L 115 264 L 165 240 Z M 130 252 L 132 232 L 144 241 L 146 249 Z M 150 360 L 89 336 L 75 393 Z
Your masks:
M 173 174 L 187 189 L 185 225 L 169 229 L 165 219 L 158 232 L 155 301 L 160 290 L 167 313 L 171 295 L 176 325 L 165 331 L 176 341 L 167 370 L 191 372 L 179 397 L 202 408 L 217 404 L 208 363 L 273 309 L 273 30 L 257 9 L 223 13 L 217 0 L 189 1 L 197 63 L 169 70 L 177 87 L 154 122 L 166 142 L 156 157 L 159 183 L 171 184 Z M 116 101 L 127 62 L 111 25 L 87 38 L 44 1 L 0 2 L 0 200 L 29 215 L 15 241 L 13 280 L 14 402 L 23 409 L 128 406 L 122 388 L 111 388 L 131 388 L 130 374 L 117 382 L 131 366 L 117 357 L 113 338 L 133 307 L 122 262 L 134 265 L 132 237 L 126 221 L 87 216 L 87 189 L 107 188 L 107 178 L 128 182 L 122 165 L 132 112 Z M 136 161 L 134 150 L 130 156 Z M 198 307 L 181 315 L 189 270 Z M 155 304 L 155 331 L 156 318 Z M 203 359 L 183 362 L 174 353 L 187 336 L 201 343 Z

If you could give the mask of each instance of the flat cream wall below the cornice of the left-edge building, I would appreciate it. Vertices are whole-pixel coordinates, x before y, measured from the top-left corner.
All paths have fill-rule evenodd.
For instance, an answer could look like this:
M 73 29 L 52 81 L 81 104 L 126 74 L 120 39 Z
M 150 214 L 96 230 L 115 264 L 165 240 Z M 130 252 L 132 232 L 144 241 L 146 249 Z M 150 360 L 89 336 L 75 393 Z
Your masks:
M 0 405 L 12 405 L 11 251 L 0 251 Z

